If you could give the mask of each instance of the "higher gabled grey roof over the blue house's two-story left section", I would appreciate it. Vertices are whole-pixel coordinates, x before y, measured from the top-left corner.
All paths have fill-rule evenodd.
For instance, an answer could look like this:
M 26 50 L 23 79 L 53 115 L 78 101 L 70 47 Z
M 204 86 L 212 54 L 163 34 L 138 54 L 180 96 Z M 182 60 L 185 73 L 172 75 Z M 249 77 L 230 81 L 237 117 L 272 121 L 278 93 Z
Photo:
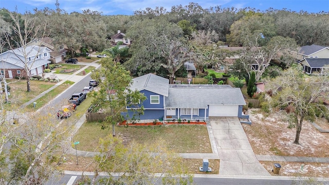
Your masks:
M 132 90 L 148 90 L 153 93 L 168 96 L 168 84 L 169 80 L 153 75 L 149 73 L 148 75 L 143 75 L 133 79 L 133 84 L 130 87 Z

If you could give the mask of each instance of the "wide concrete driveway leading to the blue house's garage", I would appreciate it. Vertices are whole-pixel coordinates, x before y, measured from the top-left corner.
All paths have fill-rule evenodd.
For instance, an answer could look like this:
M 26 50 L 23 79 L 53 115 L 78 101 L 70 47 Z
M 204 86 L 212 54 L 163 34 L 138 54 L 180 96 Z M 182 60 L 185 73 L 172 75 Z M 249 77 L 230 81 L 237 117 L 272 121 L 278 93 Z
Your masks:
M 259 163 L 237 117 L 211 117 L 221 175 L 270 175 Z

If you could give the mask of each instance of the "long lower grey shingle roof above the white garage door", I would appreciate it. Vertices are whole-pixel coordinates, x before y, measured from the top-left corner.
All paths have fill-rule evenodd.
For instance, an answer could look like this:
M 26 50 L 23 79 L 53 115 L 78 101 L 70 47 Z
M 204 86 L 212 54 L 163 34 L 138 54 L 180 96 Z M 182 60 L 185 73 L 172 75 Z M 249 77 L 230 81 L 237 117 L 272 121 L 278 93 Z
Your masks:
M 169 88 L 165 107 L 207 108 L 207 105 L 245 105 L 240 88 L 221 85 L 185 85 Z

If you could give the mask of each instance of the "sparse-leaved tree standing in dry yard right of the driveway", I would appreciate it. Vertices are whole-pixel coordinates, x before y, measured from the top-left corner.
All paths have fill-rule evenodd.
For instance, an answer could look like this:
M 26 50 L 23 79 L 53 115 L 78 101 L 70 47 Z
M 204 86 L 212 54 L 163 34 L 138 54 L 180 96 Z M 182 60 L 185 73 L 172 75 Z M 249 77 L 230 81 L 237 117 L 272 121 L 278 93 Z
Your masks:
M 299 144 L 299 136 L 304 119 L 314 119 L 317 115 L 327 115 L 328 108 L 322 102 L 328 101 L 329 91 L 327 75 L 305 77 L 300 68 L 290 67 L 282 75 L 268 82 L 266 91 L 272 95 L 270 104 L 276 109 L 285 108 L 294 118 L 296 127 L 295 144 Z

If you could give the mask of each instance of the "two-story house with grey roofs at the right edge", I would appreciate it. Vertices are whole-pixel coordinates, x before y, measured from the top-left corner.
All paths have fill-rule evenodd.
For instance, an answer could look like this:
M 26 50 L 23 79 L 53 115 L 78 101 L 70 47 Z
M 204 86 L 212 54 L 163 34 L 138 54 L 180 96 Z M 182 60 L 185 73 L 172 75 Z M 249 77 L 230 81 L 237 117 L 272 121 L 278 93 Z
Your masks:
M 299 64 L 308 75 L 312 73 L 327 74 L 329 70 L 329 47 L 310 45 L 302 46 L 298 51 Z

